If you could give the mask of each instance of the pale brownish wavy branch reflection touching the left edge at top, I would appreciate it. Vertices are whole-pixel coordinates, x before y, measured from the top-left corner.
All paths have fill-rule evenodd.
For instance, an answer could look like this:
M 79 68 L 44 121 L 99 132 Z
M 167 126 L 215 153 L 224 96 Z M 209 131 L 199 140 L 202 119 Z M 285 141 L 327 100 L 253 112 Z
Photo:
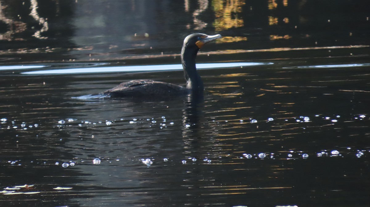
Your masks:
M 4 34 L 0 34 L 0 40 L 11 41 L 14 34 L 26 30 L 26 23 L 6 18 L 5 14 L 3 14 L 4 8 L 5 6 L 2 6 L 0 1 L 0 20 L 9 25 L 9 31 L 5 32 Z

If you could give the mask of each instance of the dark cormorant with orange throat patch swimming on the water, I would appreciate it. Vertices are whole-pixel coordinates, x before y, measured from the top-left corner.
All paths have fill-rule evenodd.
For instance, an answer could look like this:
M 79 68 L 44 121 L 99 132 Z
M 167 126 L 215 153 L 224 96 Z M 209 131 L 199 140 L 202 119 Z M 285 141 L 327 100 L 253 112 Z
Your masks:
M 104 91 L 96 96 L 105 97 L 171 97 L 186 94 L 202 94 L 203 82 L 195 67 L 198 50 L 210 41 L 221 38 L 221 35 L 195 33 L 184 39 L 181 49 L 181 63 L 184 68 L 186 87 L 154 80 L 132 80 Z

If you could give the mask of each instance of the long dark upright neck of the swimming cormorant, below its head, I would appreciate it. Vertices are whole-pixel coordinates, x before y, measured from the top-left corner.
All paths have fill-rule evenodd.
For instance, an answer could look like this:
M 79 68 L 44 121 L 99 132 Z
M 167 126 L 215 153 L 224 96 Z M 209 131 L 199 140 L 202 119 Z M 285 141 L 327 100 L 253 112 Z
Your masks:
M 203 82 L 195 67 L 195 58 L 199 49 L 187 50 L 184 46 L 181 50 L 181 62 L 184 68 L 186 88 L 192 92 L 203 92 Z

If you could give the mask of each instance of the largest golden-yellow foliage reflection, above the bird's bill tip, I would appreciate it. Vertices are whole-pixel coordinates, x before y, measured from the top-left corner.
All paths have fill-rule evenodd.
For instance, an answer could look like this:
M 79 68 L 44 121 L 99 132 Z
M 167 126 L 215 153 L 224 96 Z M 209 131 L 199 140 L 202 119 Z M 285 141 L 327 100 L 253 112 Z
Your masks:
M 212 0 L 216 17 L 213 22 L 215 30 L 221 31 L 232 27 L 243 27 L 243 19 L 238 16 L 238 13 L 242 12 L 244 4 L 242 0 Z

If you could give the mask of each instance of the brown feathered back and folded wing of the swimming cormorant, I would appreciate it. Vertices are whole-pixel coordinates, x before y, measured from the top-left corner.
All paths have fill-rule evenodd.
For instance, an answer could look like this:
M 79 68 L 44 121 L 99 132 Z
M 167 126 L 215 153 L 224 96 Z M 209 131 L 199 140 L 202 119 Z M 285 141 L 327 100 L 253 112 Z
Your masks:
M 104 91 L 112 96 L 175 96 L 188 93 L 185 87 L 153 80 L 133 80 Z

